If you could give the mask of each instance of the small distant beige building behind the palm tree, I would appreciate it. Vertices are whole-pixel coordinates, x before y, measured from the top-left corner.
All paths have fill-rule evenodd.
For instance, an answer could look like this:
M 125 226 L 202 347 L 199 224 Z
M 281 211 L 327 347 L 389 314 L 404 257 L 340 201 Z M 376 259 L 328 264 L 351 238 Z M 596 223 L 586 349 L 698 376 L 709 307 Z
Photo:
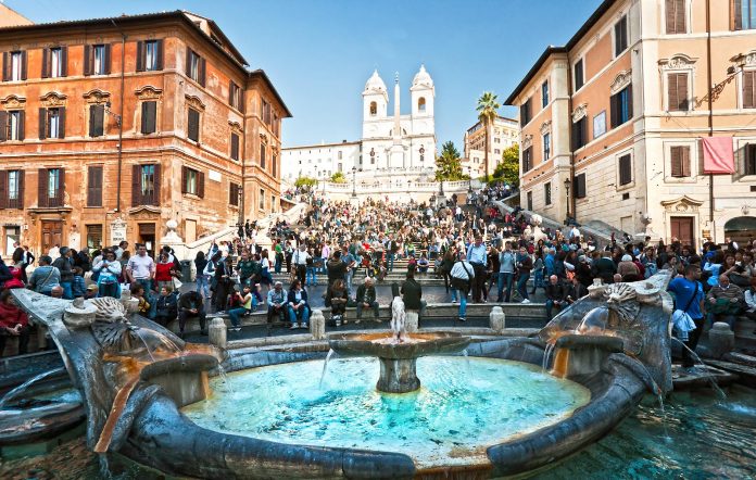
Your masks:
M 478 122 L 465 131 L 465 152 L 462 169 L 474 178 L 486 175 L 486 128 Z M 519 142 L 519 126 L 514 118 L 496 117 L 491 126 L 489 169 L 491 173 L 502 162 L 502 153 Z

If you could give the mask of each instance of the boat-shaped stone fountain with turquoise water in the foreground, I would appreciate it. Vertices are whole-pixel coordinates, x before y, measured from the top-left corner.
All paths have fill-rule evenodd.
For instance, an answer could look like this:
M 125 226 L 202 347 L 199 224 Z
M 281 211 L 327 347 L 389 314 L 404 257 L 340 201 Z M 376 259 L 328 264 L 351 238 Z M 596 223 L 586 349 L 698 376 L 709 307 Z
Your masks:
M 671 390 L 669 277 L 595 286 L 533 338 L 407 336 L 398 303 L 391 331 L 329 337 L 323 388 L 314 344 L 224 354 L 122 302 L 13 294 L 58 345 L 93 451 L 199 478 L 480 478 L 547 468 Z

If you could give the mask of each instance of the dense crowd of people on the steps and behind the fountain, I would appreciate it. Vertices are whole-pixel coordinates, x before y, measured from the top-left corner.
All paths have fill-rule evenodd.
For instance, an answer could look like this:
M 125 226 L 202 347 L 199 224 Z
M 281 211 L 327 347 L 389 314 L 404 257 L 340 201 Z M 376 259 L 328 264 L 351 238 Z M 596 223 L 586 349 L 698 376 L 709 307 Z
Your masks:
M 13 288 L 63 299 L 121 298 L 128 288 L 143 315 L 162 325 L 178 320 L 180 334 L 191 320 L 206 333 L 209 313 L 228 314 L 230 328 L 238 330 L 241 318 L 261 304 L 268 321 L 298 329 L 307 328 L 308 289 L 320 283 L 326 287 L 331 325 L 349 321 L 348 306 L 356 307 L 355 323 L 365 311 L 378 318 L 376 282 L 396 271 L 400 260 L 406 262 L 401 262 L 403 278 L 395 290 L 407 308 L 421 313 L 425 302 L 417 278 L 436 275 L 444 279 L 452 302 L 458 303 L 462 321 L 468 302 L 530 303 L 539 290 L 551 318 L 584 296 L 596 279 L 637 281 L 659 269 L 676 273 L 669 290 L 678 310 L 686 312 L 695 326 L 690 334 L 682 332 L 689 346 L 695 348 L 707 318 L 733 328 L 739 317 L 756 319 L 756 242 L 706 242 L 696 250 L 676 240 L 664 244 L 650 238 L 619 241 L 613 236 L 600 244 L 581 235 L 577 225 L 545 229 L 536 239 L 525 212 L 502 214 L 492 205 L 492 200 L 508 193 L 502 186 L 489 187 L 468 205 L 452 198 L 441 207 L 388 199 L 353 204 L 311 193 L 311 209 L 297 225 L 279 222 L 261 235 L 254 223 L 247 222 L 238 226 L 232 241 L 213 243 L 207 252 L 198 253 L 196 288 L 180 294 L 185 268 L 169 248 L 153 258 L 141 244 L 130 254 L 125 241 L 91 252 L 56 245 L 37 260 L 18 245 L 12 265 L 0 265 L 0 346 L 9 336 L 21 337 L 20 351 L 28 341 L 28 318 L 7 294 Z M 261 245 L 261 237 L 270 243 Z M 355 286 L 361 270 L 364 276 L 357 276 Z M 274 275 L 284 271 L 288 289 L 280 277 L 274 281 Z

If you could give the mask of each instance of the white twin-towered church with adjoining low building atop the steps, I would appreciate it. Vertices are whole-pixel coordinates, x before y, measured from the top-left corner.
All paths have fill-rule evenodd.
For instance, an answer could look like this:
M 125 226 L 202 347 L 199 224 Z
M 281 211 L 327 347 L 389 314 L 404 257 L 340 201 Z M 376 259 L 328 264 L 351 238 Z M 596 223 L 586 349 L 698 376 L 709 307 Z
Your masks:
M 349 181 L 354 174 L 357 186 L 430 180 L 436 169 L 436 87 L 425 66 L 413 78 L 408 114 L 401 113 L 399 76 L 394 79 L 393 96 L 393 112 L 389 114 L 389 90 L 375 71 L 362 93 L 362 139 L 282 148 L 284 179 L 327 180 L 342 172 Z

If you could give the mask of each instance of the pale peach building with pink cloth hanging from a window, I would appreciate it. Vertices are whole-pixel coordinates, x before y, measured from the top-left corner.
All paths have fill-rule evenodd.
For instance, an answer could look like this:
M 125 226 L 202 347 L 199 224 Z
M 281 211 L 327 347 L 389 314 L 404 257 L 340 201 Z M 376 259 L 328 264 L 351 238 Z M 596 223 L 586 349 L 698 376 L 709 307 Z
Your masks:
M 756 238 L 756 0 L 605 0 L 549 47 L 520 110 L 524 207 L 631 235 Z M 733 172 L 705 172 L 729 139 Z

